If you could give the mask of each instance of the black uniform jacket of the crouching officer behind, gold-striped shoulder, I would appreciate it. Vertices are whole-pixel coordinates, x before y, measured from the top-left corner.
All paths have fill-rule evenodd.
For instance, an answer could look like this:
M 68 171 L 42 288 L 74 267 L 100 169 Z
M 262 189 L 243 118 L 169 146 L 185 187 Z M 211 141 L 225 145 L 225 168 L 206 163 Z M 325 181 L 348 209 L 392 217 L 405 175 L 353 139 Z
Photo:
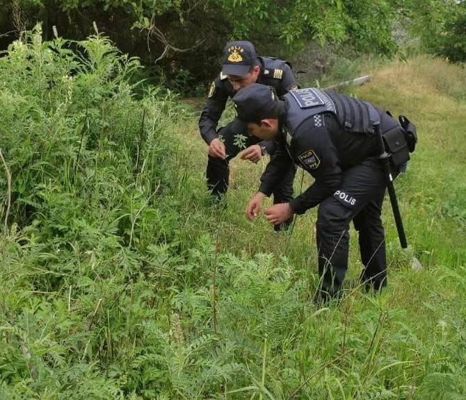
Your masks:
M 257 83 L 271 86 L 278 96 L 283 96 L 289 90 L 298 88 L 296 78 L 288 63 L 270 57 L 258 57 L 260 67 Z M 211 85 L 209 98 L 199 119 L 199 128 L 202 138 L 207 144 L 214 140 L 218 120 L 220 119 L 229 97 L 235 94 L 233 86 L 225 74 L 220 73 Z

